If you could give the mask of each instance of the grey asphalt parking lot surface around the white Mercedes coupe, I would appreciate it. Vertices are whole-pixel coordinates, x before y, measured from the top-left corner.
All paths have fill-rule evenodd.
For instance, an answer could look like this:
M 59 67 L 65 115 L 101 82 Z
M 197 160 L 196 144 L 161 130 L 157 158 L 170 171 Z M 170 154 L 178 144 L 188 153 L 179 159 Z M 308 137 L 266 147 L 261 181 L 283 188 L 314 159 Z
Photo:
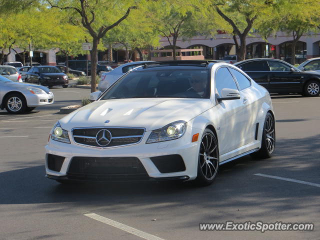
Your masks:
M 44 177 L 44 145 L 64 116 L 57 114 L 59 108 L 79 104 L 89 89 L 52 92 L 54 104 L 28 114 L 0 110 L 0 239 L 319 239 L 320 97 L 272 96 L 273 157 L 227 163 L 208 187 L 64 185 Z M 312 222 L 315 229 L 199 230 L 199 223 L 227 220 Z

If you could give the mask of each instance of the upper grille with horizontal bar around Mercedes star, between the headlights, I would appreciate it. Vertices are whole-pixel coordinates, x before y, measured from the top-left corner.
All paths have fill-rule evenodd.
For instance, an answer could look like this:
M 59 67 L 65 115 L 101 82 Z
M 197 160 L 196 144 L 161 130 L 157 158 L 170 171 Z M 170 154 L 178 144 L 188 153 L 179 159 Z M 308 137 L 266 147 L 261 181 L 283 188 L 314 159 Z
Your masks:
M 101 146 L 96 142 L 98 131 L 106 129 L 111 133 L 111 141 Z M 114 147 L 138 143 L 144 134 L 144 128 L 134 127 L 93 127 L 93 128 L 74 128 L 72 129 L 73 140 L 78 144 L 94 147 Z M 103 142 L 106 144 L 106 142 Z M 104 145 L 102 144 L 102 145 Z

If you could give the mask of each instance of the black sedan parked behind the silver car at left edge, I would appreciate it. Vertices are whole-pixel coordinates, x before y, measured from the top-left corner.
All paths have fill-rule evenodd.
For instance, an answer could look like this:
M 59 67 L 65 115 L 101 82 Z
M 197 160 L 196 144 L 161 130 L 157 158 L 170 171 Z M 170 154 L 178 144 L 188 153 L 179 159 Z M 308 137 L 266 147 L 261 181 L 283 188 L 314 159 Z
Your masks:
M 45 86 L 68 86 L 68 77 L 56 66 L 33 66 L 26 73 L 26 82 Z

